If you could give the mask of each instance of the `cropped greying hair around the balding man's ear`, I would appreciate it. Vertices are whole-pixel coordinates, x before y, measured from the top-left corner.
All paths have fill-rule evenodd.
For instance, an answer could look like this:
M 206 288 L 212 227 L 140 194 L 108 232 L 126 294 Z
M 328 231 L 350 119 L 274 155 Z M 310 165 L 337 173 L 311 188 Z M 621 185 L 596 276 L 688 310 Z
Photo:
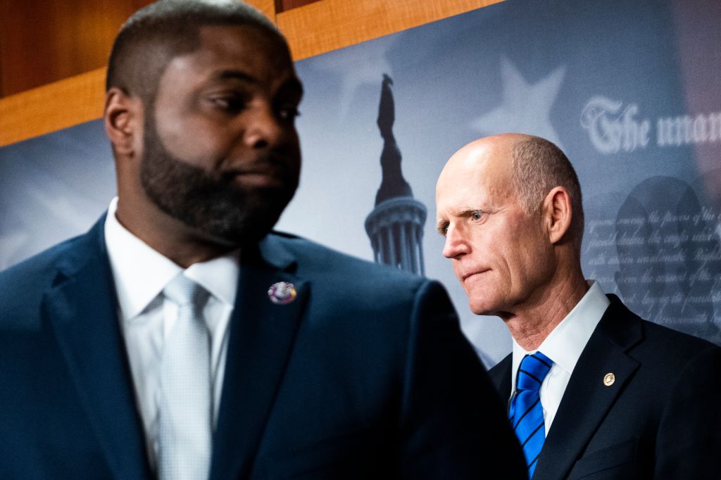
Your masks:
M 583 199 L 571 162 L 554 143 L 540 137 L 513 146 L 513 185 L 528 215 L 539 215 L 543 200 L 555 187 L 564 187 L 571 197 L 570 234 L 578 249 L 583 240 Z

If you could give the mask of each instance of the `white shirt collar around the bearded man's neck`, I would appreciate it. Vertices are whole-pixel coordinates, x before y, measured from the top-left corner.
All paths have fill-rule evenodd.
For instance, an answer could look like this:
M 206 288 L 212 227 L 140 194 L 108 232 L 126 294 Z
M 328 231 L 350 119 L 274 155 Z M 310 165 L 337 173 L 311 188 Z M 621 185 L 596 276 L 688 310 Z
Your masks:
M 115 217 L 117 209 L 118 197 L 115 197 L 105 216 L 105 244 L 120 314 L 127 321 L 141 314 L 183 269 L 122 226 Z M 218 300 L 233 306 L 238 284 L 238 254 L 234 251 L 196 263 L 185 270 L 185 275 Z

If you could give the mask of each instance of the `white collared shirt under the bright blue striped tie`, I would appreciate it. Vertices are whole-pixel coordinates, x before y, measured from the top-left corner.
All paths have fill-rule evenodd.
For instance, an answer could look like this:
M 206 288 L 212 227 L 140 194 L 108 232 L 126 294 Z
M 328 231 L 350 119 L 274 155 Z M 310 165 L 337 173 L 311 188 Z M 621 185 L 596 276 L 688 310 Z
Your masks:
M 553 329 L 537 350 L 526 352 L 521 345 L 516 343 L 515 339 L 513 340 L 511 392 L 516 391 L 516 373 L 524 356 L 540 351 L 553 360 L 553 367 L 541 383 L 539 392 L 547 436 L 571 378 L 571 373 L 578 363 L 578 357 L 611 303 L 598 282 L 589 280 L 588 285 L 590 286 L 588 292 L 583 295 L 583 298 L 573 307 L 566 318 Z M 511 398 L 513 398 L 513 393 Z

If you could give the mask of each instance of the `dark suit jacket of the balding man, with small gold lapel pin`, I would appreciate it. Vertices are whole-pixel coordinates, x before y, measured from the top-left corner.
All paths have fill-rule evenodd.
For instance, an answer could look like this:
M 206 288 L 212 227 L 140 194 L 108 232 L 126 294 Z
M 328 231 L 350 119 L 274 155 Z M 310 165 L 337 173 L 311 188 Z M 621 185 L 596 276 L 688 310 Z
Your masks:
M 578 359 L 535 479 L 720 479 L 721 349 L 611 305 Z M 490 370 L 510 396 L 510 355 Z M 607 373 L 615 375 L 605 386 Z

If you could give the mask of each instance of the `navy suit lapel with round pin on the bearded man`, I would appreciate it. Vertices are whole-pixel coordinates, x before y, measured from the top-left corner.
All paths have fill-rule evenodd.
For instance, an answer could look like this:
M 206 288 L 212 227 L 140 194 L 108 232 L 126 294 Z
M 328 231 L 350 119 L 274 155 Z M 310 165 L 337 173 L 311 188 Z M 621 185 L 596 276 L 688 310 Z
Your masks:
M 249 476 L 304 313 L 309 283 L 290 271 L 295 262 L 272 237 L 264 256 L 243 252 L 218 423 L 211 479 Z M 278 305 L 267 290 L 293 283 L 295 301 Z

